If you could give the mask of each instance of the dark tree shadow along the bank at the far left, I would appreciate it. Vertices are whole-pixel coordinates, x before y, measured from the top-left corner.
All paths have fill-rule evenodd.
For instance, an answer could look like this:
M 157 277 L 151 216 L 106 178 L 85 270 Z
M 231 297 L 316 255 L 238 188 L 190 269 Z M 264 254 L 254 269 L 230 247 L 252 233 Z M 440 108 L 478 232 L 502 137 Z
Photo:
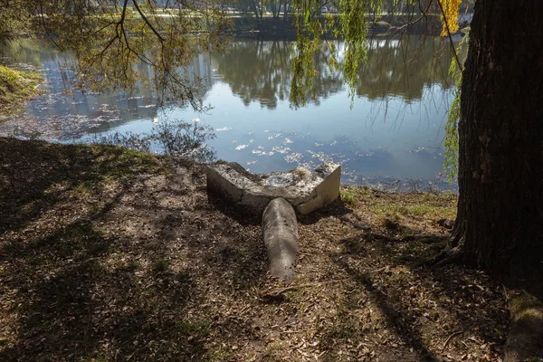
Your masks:
M 104 147 L 96 152 L 90 147 L 0 138 L 0 233 L 17 232 L 73 189 L 94 186 L 108 177 L 129 179 L 143 170 L 160 167 L 145 156 L 129 162 L 126 152 L 121 148 Z

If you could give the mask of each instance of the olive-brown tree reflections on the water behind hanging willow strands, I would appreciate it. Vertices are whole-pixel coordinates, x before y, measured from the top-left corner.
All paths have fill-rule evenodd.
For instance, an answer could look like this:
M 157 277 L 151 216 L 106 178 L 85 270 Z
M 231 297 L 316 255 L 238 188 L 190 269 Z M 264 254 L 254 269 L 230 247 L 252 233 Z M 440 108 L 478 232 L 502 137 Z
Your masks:
M 220 80 L 228 83 L 245 106 L 255 101 L 274 110 L 279 101 L 289 99 L 294 46 L 295 43 L 281 40 L 238 42 L 228 53 L 212 54 L 211 60 Z M 369 40 L 367 62 L 357 81 L 357 96 L 369 100 L 399 96 L 411 102 L 421 100 L 426 87 L 437 84 L 443 89 L 451 88 L 453 82 L 447 74 L 451 57 L 446 46 L 441 38 Z M 337 48 L 341 62 L 343 44 L 337 43 Z M 341 71 L 328 65 L 329 52 L 329 47 L 323 45 L 314 56 L 319 75 L 307 94 L 307 100 L 314 105 L 345 90 Z

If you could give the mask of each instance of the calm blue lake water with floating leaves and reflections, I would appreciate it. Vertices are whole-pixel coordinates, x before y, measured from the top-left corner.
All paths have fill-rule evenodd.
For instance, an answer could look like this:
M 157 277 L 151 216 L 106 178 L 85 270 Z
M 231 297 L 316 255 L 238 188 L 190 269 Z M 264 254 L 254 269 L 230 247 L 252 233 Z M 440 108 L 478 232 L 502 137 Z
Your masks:
M 252 172 L 332 161 L 342 164 L 346 184 L 451 188 L 441 175 L 453 83 L 446 40 L 370 40 L 352 103 L 341 74 L 329 71 L 319 53 L 319 77 L 310 101 L 298 109 L 289 102 L 293 46 L 246 40 L 224 54 L 200 55 L 189 71 L 204 81 L 200 95 L 213 109 L 198 113 L 157 107 L 145 89 L 131 95 L 67 92 L 70 58 L 44 43 L 21 40 L 2 49 L 0 62 L 40 71 L 47 92 L 23 114 L 4 119 L 0 135 L 93 142 L 112 132 L 148 133 L 157 123 L 183 119 L 213 128 L 216 138 L 206 146 L 217 158 Z

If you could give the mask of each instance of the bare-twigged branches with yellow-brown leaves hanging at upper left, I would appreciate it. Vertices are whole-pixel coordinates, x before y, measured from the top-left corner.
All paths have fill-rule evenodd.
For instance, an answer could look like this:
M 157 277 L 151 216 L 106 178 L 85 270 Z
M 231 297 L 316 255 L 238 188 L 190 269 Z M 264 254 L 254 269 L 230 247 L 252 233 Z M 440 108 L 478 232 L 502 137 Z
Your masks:
M 6 17 L 25 19 L 32 33 L 72 52 L 74 86 L 81 90 L 144 86 L 159 100 L 195 109 L 202 108 L 202 80 L 188 75 L 188 65 L 201 52 L 223 50 L 231 25 L 211 0 L 164 6 L 152 0 L 0 0 L 0 20 Z M 20 25 L 10 26 L 6 31 L 13 33 Z

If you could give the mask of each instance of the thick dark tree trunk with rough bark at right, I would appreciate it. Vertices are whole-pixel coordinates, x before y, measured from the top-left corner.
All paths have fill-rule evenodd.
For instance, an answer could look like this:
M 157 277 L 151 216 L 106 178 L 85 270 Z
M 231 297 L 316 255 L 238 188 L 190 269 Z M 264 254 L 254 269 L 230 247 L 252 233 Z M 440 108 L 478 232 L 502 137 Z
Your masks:
M 495 275 L 543 267 L 542 24 L 541 0 L 475 5 L 453 246 L 463 262 Z

